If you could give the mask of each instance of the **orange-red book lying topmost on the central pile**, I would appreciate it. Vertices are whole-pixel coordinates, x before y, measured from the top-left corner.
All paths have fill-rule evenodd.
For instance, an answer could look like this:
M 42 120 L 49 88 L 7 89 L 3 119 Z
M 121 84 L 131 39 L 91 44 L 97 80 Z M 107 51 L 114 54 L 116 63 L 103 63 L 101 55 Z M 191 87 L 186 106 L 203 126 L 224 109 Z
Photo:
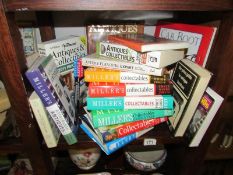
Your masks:
M 189 47 L 187 42 L 155 38 L 147 34 L 108 35 L 108 40 L 110 42 L 122 44 L 138 52 L 187 49 Z

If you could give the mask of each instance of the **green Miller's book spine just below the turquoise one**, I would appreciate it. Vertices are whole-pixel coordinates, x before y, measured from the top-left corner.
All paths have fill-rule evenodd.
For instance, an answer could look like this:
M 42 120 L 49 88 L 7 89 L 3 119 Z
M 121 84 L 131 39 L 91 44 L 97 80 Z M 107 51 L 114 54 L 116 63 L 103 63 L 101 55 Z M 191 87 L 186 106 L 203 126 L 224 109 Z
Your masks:
M 173 115 L 172 109 L 91 111 L 95 128 Z

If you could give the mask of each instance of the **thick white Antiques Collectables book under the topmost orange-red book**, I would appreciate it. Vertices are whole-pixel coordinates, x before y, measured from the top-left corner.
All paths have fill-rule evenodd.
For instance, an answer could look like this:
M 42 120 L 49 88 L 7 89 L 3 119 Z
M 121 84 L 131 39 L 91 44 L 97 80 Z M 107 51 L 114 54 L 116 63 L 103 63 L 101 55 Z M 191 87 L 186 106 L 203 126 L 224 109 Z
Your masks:
M 96 54 L 129 63 L 143 64 L 154 68 L 164 68 L 184 58 L 185 49 L 137 52 L 129 47 L 113 42 L 101 41 L 96 45 Z

